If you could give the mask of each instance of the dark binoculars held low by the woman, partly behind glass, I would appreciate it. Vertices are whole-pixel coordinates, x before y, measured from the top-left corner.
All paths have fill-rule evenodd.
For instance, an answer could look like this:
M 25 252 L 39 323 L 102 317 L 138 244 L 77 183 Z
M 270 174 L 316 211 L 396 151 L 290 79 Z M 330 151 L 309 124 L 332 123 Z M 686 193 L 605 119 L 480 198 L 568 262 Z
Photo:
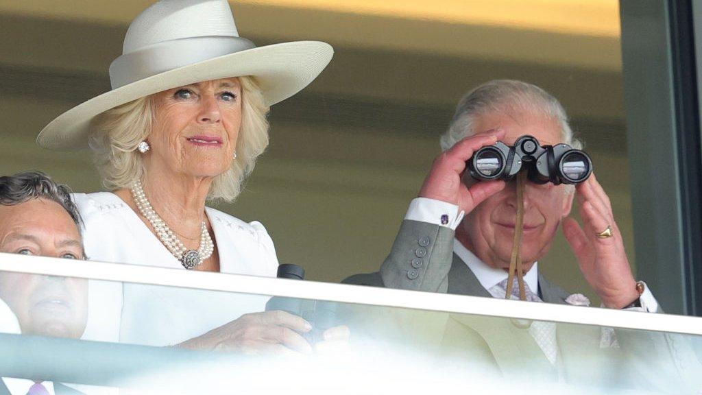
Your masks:
M 295 264 L 281 264 L 278 266 L 277 277 L 303 280 L 305 269 Z M 338 325 L 337 307 L 336 302 L 326 300 L 272 297 L 266 303 L 265 310 L 282 310 L 305 318 L 312 325 L 312 330 L 303 334 L 303 337 L 314 344 L 323 340 L 325 330 Z

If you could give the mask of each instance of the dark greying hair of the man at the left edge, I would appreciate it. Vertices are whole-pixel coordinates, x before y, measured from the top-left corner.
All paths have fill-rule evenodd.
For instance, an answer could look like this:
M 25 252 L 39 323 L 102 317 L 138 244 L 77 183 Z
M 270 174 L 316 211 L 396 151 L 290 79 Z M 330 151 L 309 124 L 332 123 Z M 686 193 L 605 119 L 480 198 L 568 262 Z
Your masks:
M 0 177 L 0 205 L 14 206 L 32 199 L 46 199 L 63 207 L 80 229 L 83 220 L 73 200 L 71 190 L 58 184 L 41 171 L 25 171 Z

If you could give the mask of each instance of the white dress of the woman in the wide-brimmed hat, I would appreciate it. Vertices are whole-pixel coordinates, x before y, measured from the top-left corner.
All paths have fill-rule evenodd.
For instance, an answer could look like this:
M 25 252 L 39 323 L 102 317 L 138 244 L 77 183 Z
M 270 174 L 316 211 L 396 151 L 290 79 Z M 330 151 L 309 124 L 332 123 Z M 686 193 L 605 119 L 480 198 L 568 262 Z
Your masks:
M 113 193 L 73 195 L 85 222 L 88 259 L 185 270 L 139 216 Z M 206 208 L 222 273 L 275 277 L 278 260 L 263 225 Z M 83 339 L 164 346 L 204 334 L 269 297 L 91 280 Z

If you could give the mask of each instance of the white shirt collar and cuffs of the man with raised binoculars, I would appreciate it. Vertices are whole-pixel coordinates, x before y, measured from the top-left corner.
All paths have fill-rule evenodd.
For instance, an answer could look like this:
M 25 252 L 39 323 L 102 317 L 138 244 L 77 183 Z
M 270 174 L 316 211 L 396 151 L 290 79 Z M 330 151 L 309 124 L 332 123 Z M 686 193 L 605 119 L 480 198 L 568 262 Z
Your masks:
M 404 219 L 427 222 L 451 228 L 451 230 L 455 231 L 458 224 L 461 224 L 461 221 L 463 221 L 464 214 L 463 211 L 458 210 L 457 205 L 427 197 L 416 197 L 410 202 Z M 453 252 L 463 259 L 485 290 L 489 290 L 508 277 L 506 271 L 488 266 L 456 239 L 453 240 Z M 524 275 L 524 280 L 532 291 L 538 292 L 538 262 L 535 262 L 531 270 Z M 658 312 L 658 302 L 645 283 L 644 293 L 640 297 L 640 302 L 641 307 L 631 307 L 628 310 Z

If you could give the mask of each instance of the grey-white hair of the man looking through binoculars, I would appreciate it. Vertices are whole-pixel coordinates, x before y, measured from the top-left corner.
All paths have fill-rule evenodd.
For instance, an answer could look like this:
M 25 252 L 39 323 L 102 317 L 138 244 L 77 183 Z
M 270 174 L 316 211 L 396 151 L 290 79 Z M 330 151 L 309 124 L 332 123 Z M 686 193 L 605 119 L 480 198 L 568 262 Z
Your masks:
M 477 134 L 475 119 L 496 111 L 546 115 L 560 124 L 563 143 L 578 150 L 583 148 L 583 144 L 573 136 L 566 110 L 550 93 L 527 82 L 494 79 L 466 93 L 458 102 L 449 130 L 439 140 L 442 150 L 448 150 L 463 138 Z

